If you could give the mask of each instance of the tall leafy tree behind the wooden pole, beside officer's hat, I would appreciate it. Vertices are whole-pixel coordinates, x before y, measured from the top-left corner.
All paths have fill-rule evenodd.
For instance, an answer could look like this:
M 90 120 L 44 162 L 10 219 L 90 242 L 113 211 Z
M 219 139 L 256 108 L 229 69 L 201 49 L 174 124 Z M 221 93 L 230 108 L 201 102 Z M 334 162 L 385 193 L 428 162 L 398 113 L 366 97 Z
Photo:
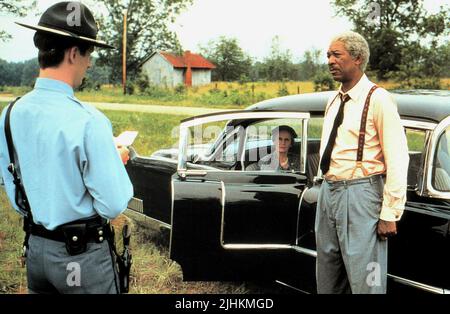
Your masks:
M 123 10 L 127 10 L 127 76 L 137 77 L 138 66 L 156 50 L 181 52 L 176 34 L 169 29 L 192 0 L 99 0 L 108 14 L 97 16 L 99 37 L 118 49 L 99 49 L 98 65 L 112 69 L 111 78 L 122 77 Z

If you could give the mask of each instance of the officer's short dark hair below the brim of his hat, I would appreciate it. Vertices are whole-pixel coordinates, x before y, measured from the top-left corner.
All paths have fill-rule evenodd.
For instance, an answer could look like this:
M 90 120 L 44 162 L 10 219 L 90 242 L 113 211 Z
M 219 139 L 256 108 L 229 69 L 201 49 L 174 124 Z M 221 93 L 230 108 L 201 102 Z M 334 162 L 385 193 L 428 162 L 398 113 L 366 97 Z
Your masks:
M 78 47 L 82 56 L 93 46 L 71 37 L 60 36 L 37 31 L 34 34 L 34 45 L 39 49 L 38 61 L 41 69 L 58 66 L 64 60 L 67 49 Z

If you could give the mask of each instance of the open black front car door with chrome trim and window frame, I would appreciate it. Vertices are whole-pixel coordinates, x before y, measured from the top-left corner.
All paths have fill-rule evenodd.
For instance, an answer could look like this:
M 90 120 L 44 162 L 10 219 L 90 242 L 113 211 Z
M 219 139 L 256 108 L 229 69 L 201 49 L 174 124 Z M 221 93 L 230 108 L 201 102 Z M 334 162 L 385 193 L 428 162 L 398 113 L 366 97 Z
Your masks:
M 298 171 L 246 171 L 252 149 L 246 143 L 248 126 L 266 119 L 298 121 Z M 185 280 L 276 279 L 289 271 L 307 183 L 302 140 L 308 119 L 305 113 L 239 111 L 181 124 L 178 171 L 172 178 L 170 257 L 181 265 Z M 192 154 L 189 134 L 204 133 L 212 123 L 242 132 L 222 132 L 234 136 L 223 145 L 216 142 L 209 156 Z M 234 160 L 217 160 L 230 157 L 229 151 L 236 152 Z

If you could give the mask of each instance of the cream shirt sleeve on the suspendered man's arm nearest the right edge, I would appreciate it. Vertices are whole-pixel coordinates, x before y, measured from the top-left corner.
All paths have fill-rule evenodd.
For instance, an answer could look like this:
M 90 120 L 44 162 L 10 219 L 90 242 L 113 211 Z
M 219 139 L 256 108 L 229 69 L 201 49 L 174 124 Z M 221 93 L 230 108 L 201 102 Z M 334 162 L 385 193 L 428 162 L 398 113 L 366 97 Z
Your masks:
M 397 105 L 390 94 L 379 89 L 374 96 L 374 122 L 386 166 L 386 184 L 380 219 L 398 221 L 403 214 L 406 202 L 408 144 Z

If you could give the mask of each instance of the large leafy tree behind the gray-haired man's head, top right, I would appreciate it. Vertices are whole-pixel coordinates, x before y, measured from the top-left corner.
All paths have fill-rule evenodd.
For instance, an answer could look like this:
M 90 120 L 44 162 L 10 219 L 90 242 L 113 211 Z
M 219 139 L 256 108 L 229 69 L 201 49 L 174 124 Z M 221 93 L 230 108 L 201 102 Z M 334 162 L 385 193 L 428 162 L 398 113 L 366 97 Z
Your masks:
M 333 6 L 367 39 L 369 68 L 377 72 L 378 79 L 405 66 L 408 46 L 417 43 L 424 48 L 424 43 L 445 38 L 450 29 L 449 8 L 428 14 L 423 0 L 334 0 Z

